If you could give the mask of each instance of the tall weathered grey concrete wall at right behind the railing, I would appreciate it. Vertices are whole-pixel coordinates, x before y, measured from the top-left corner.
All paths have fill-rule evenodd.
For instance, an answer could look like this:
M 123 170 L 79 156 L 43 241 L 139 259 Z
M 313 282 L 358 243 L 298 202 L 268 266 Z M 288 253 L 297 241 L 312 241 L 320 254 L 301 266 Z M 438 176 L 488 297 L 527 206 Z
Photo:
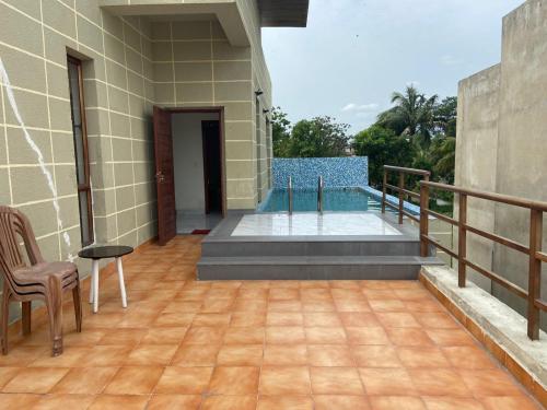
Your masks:
M 503 19 L 499 68 L 461 85 L 464 118 L 458 124 L 456 181 L 481 189 L 547 201 L 547 3 L 528 0 Z M 489 79 L 488 79 L 489 78 Z M 469 91 L 475 91 L 475 95 Z M 472 211 L 469 211 L 472 212 Z M 475 208 L 470 218 L 498 235 L 528 244 L 529 211 L 503 204 Z M 547 249 L 547 224 L 544 224 Z M 472 249 L 479 261 L 527 289 L 528 261 L 523 254 L 494 245 Z M 542 288 L 547 297 L 547 267 Z M 522 314 L 525 302 L 492 283 L 492 293 Z M 544 328 L 546 325 L 544 318 Z

